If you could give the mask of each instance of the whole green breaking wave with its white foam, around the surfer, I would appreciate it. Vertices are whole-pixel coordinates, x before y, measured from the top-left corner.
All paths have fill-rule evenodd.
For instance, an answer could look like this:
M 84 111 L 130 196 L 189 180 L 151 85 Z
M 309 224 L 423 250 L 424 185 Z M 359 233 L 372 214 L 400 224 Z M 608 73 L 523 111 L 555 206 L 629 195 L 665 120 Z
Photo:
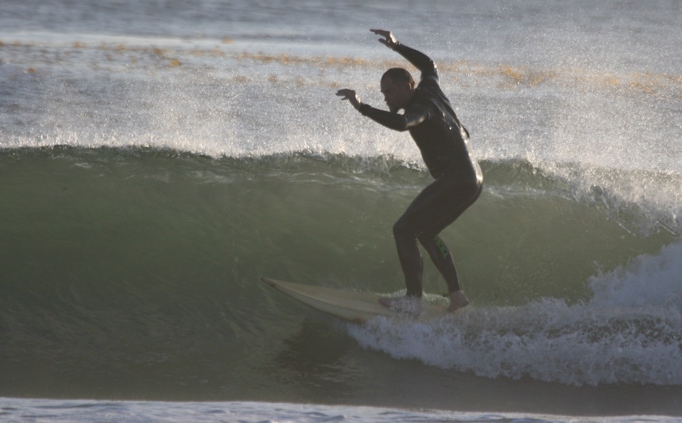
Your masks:
M 473 306 L 344 330 L 490 378 L 682 385 L 675 230 L 524 161 L 482 167 L 482 197 L 443 234 Z M 0 171 L 0 368 L 14 392 L 50 392 L 45 375 L 60 373 L 104 391 L 264 377 L 272 322 L 301 309 L 259 278 L 398 291 L 390 227 L 429 181 L 389 156 L 142 148 L 12 149 Z M 445 290 L 428 261 L 425 290 Z

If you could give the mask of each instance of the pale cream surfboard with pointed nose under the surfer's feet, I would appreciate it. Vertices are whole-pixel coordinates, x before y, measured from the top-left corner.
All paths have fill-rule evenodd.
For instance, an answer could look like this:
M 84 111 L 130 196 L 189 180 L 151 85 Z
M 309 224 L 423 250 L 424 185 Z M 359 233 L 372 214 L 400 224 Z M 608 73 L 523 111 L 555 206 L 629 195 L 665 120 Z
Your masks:
M 381 298 L 379 294 L 315 287 L 313 285 L 283 282 L 269 278 L 263 278 L 262 280 L 283 294 L 301 301 L 306 306 L 355 323 L 364 323 L 379 316 L 414 318 L 418 321 L 427 321 L 445 316 L 447 313 L 445 306 L 429 304 L 423 301 L 421 314 L 411 316 L 410 314 L 400 313 L 379 304 L 378 300 Z

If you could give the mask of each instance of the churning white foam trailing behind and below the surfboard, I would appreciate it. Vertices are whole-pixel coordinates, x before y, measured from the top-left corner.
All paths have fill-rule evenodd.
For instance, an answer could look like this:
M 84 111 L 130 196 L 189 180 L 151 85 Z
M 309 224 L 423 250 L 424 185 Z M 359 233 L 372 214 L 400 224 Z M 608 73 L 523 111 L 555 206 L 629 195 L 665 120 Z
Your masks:
M 566 385 L 682 385 L 682 245 L 595 277 L 595 298 L 476 308 L 414 323 L 377 318 L 348 331 L 394 358 L 487 378 L 532 378 Z M 677 282 L 673 282 L 677 281 Z M 675 286 L 677 284 L 677 286 Z M 643 291 L 656 291 L 645 295 Z

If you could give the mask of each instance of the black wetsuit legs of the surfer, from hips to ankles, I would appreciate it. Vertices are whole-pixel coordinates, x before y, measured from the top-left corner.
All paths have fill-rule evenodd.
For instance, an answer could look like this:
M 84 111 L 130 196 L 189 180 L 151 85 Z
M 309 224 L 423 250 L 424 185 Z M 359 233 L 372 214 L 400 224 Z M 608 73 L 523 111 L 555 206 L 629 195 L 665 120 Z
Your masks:
M 450 250 L 438 233 L 469 208 L 481 190 L 480 183 L 462 182 L 446 173 L 424 188 L 396 222 L 393 232 L 408 296 L 422 295 L 423 262 L 417 240 L 445 278 L 448 289 L 451 292 L 460 289 Z

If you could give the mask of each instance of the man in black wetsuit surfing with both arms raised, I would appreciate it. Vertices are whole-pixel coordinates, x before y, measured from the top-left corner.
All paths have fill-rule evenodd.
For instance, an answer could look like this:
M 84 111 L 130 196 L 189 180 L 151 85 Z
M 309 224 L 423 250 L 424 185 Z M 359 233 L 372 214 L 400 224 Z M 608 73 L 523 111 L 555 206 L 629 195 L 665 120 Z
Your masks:
M 393 227 L 407 294 L 404 298 L 386 298 L 379 302 L 406 311 L 421 310 L 423 262 L 418 241 L 448 283 L 448 311 L 456 311 L 469 304 L 469 300 L 460 287 L 450 250 L 438 234 L 477 200 L 483 175 L 472 154 L 469 133 L 440 89 L 433 60 L 399 43 L 390 31 L 370 31 L 384 37 L 379 39 L 380 43 L 421 71 L 419 84 L 415 85 L 405 69 L 387 70 L 381 77 L 381 92 L 389 112 L 364 104 L 354 90 L 338 90 L 336 95 L 385 127 L 409 131 L 435 179 L 419 193 Z M 404 114 L 398 113 L 400 109 L 404 109 Z

